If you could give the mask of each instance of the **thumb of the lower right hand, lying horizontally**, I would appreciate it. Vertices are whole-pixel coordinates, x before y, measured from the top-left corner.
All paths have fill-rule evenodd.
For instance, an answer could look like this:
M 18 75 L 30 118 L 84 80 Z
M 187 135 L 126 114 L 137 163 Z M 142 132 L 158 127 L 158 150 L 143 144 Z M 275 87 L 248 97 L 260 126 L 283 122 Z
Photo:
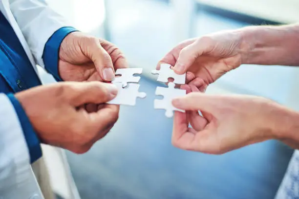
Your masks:
M 184 97 L 173 99 L 172 105 L 182 110 L 201 110 L 211 113 L 217 110 L 218 101 L 217 96 L 193 92 Z

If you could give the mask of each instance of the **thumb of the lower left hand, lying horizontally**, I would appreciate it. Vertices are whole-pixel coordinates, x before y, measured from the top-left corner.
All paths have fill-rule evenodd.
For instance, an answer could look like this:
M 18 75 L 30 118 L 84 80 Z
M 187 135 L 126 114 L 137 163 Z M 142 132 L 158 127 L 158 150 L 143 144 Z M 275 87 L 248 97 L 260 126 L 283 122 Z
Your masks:
M 117 95 L 114 84 L 100 81 L 74 82 L 66 88 L 68 100 L 76 107 L 85 103 L 106 103 Z

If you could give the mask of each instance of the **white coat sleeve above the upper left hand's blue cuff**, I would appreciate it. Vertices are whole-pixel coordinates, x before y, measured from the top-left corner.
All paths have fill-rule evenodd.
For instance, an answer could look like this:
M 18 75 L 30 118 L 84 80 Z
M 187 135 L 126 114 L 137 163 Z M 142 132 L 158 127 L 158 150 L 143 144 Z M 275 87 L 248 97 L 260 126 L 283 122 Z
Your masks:
M 51 9 L 45 0 L 9 0 L 9 4 L 35 61 L 44 67 L 45 43 L 55 31 L 70 26 L 70 23 Z

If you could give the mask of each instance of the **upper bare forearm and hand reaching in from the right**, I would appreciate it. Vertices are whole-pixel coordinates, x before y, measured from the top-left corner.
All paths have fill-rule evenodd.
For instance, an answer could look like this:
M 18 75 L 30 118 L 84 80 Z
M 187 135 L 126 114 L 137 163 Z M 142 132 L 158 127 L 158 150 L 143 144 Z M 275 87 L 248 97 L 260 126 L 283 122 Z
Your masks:
M 299 65 L 299 24 L 248 26 L 183 41 L 160 62 L 204 91 L 241 64 Z M 159 68 L 159 64 L 157 65 Z

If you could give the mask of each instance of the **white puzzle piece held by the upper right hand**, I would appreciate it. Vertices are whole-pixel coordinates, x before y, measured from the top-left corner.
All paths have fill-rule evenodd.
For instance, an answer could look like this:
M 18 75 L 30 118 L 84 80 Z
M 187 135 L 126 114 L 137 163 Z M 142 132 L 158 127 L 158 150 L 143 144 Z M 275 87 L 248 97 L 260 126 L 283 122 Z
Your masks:
M 152 74 L 159 74 L 157 81 L 168 82 L 169 78 L 173 78 L 173 82 L 177 84 L 185 84 L 186 73 L 183 75 L 176 74 L 172 69 L 170 64 L 162 63 L 160 65 L 160 70 L 152 70 Z

